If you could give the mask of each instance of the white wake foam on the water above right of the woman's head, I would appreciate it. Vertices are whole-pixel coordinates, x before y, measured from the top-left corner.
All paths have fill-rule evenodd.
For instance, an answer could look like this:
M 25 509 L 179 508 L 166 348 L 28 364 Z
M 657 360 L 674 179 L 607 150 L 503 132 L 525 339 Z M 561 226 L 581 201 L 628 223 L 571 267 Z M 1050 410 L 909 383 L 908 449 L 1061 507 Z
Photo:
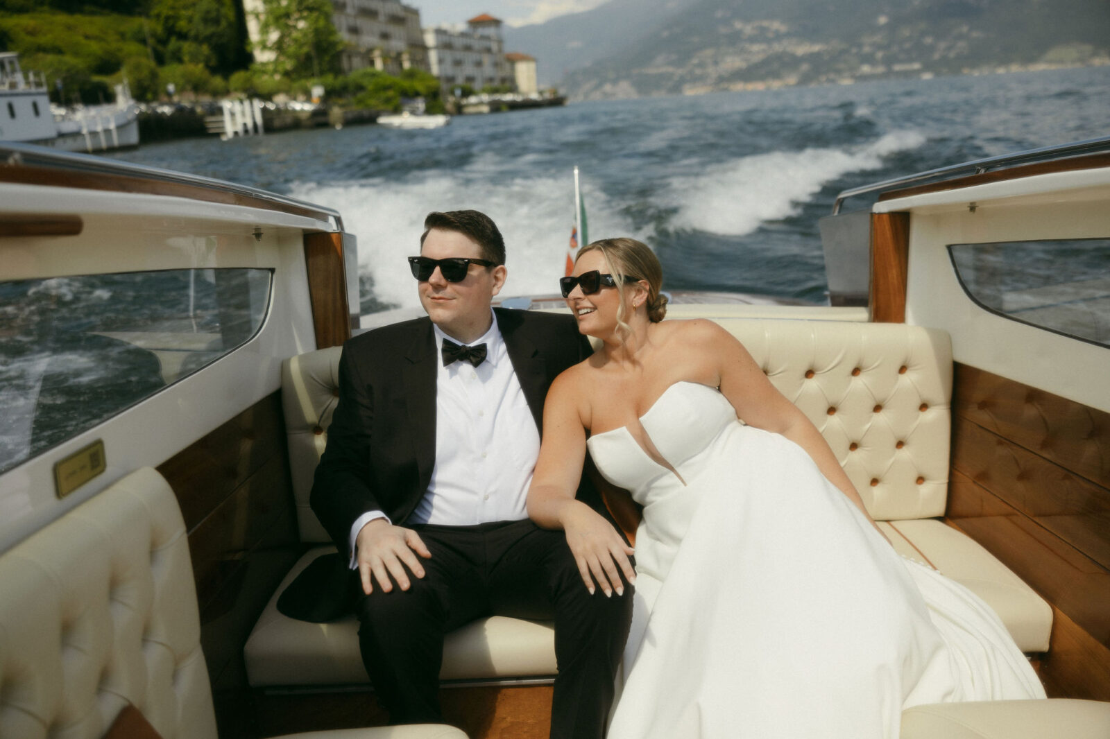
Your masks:
M 925 141 L 917 131 L 896 131 L 858 148 L 777 151 L 712 164 L 670 183 L 672 204 L 678 209 L 672 225 L 743 236 L 765 221 L 798 213 L 826 182 L 879 169 L 882 156 Z

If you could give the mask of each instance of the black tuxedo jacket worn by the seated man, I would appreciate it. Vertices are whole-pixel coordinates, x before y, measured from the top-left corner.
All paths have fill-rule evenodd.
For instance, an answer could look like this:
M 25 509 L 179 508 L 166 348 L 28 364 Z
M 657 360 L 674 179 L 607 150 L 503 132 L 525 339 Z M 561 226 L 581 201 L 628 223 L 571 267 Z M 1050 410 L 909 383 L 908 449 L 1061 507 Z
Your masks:
M 567 315 L 494 308 L 536 427 L 555 376 L 591 353 Z M 316 467 L 312 510 L 350 556 L 351 526 L 367 510 L 403 524 L 435 466 L 436 371 L 442 362 L 427 317 L 355 336 L 340 360 L 339 404 Z M 465 428 L 460 428 L 465 434 Z M 608 517 L 586 476 L 579 498 Z

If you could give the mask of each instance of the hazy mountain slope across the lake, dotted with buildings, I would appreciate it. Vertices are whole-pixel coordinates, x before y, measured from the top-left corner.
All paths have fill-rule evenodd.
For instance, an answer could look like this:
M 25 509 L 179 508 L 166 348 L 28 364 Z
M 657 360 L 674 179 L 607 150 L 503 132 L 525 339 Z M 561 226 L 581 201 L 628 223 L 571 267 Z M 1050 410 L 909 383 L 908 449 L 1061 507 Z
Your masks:
M 586 34 L 545 77 L 572 99 L 1110 63 L 1106 0 L 610 0 L 525 29 L 548 49 Z

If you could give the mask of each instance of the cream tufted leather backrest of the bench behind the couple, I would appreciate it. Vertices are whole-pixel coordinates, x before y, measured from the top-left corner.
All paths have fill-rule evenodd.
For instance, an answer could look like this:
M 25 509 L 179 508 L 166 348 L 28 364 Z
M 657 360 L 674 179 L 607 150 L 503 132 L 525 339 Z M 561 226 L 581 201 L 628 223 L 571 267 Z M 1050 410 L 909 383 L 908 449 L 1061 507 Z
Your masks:
M 872 516 L 941 516 L 948 495 L 952 351 L 942 331 L 906 324 L 717 318 L 816 424 Z M 294 356 L 282 403 L 304 541 L 329 541 L 309 507 L 327 441 L 341 348 Z

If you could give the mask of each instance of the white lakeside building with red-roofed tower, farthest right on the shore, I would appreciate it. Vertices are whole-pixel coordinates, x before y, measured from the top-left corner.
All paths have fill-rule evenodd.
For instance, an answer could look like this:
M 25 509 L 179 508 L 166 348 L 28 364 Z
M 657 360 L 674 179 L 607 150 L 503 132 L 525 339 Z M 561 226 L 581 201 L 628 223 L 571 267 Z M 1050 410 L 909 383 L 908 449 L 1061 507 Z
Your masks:
M 515 87 L 513 70 L 505 59 L 501 24 L 501 20 L 483 13 L 466 21 L 465 27 L 424 29 L 431 71 L 440 78 L 444 92 L 450 93 L 463 84 L 474 90 L 492 85 Z

